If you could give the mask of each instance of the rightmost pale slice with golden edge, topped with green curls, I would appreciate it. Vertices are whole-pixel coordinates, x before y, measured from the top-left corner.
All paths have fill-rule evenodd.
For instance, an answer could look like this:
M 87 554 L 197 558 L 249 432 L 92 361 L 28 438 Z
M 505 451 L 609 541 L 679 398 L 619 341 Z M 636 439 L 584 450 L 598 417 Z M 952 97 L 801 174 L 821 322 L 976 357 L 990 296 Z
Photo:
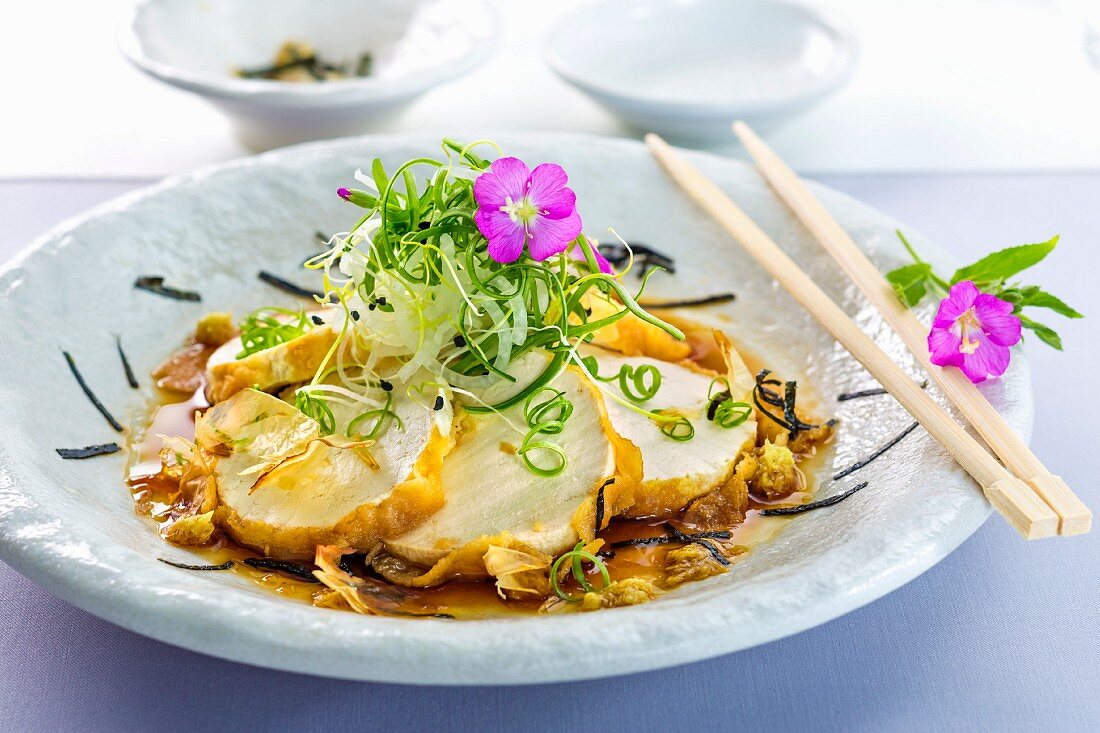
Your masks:
M 736 359 L 728 376 L 736 393 L 736 401 L 751 405 L 750 387 L 747 390 L 748 370 L 740 357 L 729 349 L 728 341 L 719 342 L 724 353 Z M 624 365 L 637 369 L 651 364 L 661 372 L 657 394 L 639 407 L 674 409 L 691 420 L 695 435 L 691 440 L 675 440 L 661 433 L 660 425 L 647 415 L 605 398 L 612 425 L 641 451 L 642 481 L 635 491 L 629 516 L 664 516 L 679 512 L 692 500 L 710 493 L 733 475 L 741 453 L 756 444 L 756 420 L 752 413 L 737 427 L 724 428 L 706 418 L 707 391 L 715 374 L 691 364 L 671 363 L 649 357 L 624 357 L 597 347 L 581 350 L 584 357 L 595 357 L 601 376 L 617 374 Z M 737 365 L 739 364 L 739 366 Z M 739 371 L 740 370 L 740 371 Z M 749 383 L 751 379 L 749 378 Z M 618 381 L 604 384 L 604 389 L 630 402 L 619 389 Z M 634 404 L 634 403 L 631 403 Z

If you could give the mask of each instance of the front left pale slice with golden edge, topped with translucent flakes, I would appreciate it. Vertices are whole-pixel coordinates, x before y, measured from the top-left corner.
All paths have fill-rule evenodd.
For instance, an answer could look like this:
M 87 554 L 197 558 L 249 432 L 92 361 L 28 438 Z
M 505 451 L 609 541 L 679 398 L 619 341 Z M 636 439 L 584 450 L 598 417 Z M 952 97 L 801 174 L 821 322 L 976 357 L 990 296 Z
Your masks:
M 308 559 L 318 545 L 367 549 L 424 521 L 443 503 L 450 405 L 394 392 L 403 427 L 366 447 L 320 437 L 316 420 L 256 390 L 211 407 L 196 440 L 217 457 L 219 526 L 268 556 Z

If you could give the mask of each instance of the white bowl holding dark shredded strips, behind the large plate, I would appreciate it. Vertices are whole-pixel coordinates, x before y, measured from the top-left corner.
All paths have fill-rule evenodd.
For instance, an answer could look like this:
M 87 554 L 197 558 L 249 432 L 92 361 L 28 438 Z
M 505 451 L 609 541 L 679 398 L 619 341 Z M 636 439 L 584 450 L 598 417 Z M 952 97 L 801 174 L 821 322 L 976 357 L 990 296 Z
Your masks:
M 226 112 L 257 150 L 363 132 L 484 62 L 488 0 L 139 0 L 119 32 L 138 68 Z M 242 79 L 286 41 L 322 58 L 373 56 L 372 75 L 318 84 Z

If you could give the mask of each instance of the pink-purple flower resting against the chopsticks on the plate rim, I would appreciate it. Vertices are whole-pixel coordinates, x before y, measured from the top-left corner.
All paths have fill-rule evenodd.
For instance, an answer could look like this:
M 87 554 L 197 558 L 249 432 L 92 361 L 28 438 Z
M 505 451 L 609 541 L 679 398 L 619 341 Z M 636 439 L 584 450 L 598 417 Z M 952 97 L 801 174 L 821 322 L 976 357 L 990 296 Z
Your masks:
M 952 286 L 928 333 L 932 363 L 958 366 L 977 384 L 1009 366 L 1009 347 L 1020 341 L 1012 304 L 988 295 L 968 280 Z

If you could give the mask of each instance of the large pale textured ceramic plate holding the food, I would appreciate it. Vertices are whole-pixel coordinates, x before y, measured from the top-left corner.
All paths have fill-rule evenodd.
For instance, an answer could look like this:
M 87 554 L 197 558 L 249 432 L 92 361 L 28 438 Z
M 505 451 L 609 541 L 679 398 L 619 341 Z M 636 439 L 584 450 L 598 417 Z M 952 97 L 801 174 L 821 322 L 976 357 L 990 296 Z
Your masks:
M 910 419 L 889 397 L 836 403 L 867 374 L 678 190 L 645 149 L 585 136 L 507 136 L 509 154 L 569 172 L 585 229 L 609 226 L 675 255 L 654 294 L 735 291 L 710 319 L 748 349 L 799 374 L 842 426 L 834 467 L 866 456 Z M 851 611 L 950 553 L 987 517 L 976 485 L 923 431 L 853 477 L 869 488 L 792 519 L 724 576 L 641 606 L 556 617 L 455 622 L 363 617 L 284 600 L 232 573 L 156 561 L 194 559 L 134 513 L 121 455 L 64 461 L 57 447 L 116 439 L 62 359 L 74 353 L 99 396 L 134 418 L 148 370 L 208 309 L 237 314 L 290 300 L 256 280 L 296 275 L 312 232 L 346 228 L 355 210 L 334 194 L 356 166 L 431 154 L 429 138 L 378 136 L 276 151 L 173 178 L 63 225 L 0 274 L 0 556 L 47 590 L 99 616 L 172 644 L 280 669 L 395 682 L 537 682 L 638 671 L 741 649 Z M 740 163 L 688 153 L 875 338 L 912 362 L 820 248 Z M 828 189 L 823 201 L 880 266 L 903 261 L 897 222 Z M 934 261 L 941 252 L 914 234 Z M 941 264 L 944 264 L 941 262 Z M 194 287 L 201 304 L 132 288 L 156 274 Z M 704 314 L 700 314 L 702 318 Z M 127 387 L 112 333 L 121 333 L 145 390 Z M 988 394 L 1008 422 L 1031 429 L 1022 354 Z M 847 483 L 845 485 L 848 485 Z M 823 493 L 835 491 L 827 484 Z M 904 633 L 899 628 L 898 633 Z

